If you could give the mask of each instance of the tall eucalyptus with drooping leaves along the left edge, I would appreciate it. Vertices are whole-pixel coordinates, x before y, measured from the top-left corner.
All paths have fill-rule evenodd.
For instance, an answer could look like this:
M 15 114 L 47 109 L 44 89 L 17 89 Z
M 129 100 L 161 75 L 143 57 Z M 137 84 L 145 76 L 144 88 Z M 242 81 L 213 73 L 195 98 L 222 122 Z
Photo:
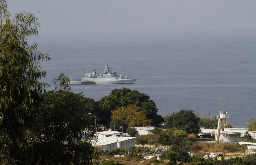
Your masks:
M 37 127 L 42 93 L 39 82 L 46 72 L 40 62 L 48 54 L 37 51 L 28 38 L 37 35 L 40 24 L 25 11 L 11 19 L 5 0 L 0 0 L 0 164 L 28 164 Z

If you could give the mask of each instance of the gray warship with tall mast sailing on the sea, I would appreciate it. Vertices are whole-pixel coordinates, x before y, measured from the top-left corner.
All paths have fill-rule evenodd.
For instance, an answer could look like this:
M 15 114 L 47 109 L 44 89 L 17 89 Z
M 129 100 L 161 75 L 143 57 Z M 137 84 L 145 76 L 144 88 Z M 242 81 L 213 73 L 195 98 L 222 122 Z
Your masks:
M 96 69 L 92 67 L 91 73 L 86 73 L 81 80 L 70 80 L 70 84 L 132 84 L 137 79 L 123 77 L 122 75 L 117 75 L 116 71 L 111 71 L 109 65 L 105 64 L 103 68 L 103 75 L 96 74 Z

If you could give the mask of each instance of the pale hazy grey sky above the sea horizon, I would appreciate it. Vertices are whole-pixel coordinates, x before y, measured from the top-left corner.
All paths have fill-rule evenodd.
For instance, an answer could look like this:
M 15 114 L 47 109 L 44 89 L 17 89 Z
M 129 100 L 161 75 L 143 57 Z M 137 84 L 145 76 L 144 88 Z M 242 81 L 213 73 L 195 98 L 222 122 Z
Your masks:
M 40 33 L 256 28 L 256 0 L 6 0 L 37 12 Z

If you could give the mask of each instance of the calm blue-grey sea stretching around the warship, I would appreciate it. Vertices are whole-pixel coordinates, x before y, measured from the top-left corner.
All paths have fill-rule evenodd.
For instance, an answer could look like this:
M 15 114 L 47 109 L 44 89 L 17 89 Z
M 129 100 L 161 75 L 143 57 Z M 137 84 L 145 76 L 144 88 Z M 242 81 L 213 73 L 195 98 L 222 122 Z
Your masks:
M 103 73 L 105 62 L 134 84 L 71 85 L 74 93 L 98 101 L 114 89 L 130 88 L 150 96 L 158 114 L 181 109 L 216 117 L 228 112 L 232 127 L 247 128 L 256 116 L 256 30 L 191 30 L 173 32 L 102 32 L 44 34 L 34 39 L 48 51 L 41 62 L 47 76 L 65 73 L 81 79 L 91 68 Z

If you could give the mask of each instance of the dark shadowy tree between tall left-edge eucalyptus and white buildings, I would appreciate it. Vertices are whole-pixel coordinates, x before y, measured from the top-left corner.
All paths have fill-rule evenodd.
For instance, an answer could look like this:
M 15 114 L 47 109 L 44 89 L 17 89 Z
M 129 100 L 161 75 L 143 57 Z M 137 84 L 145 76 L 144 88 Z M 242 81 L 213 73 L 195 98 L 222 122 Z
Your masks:
M 86 101 L 81 93 L 70 91 L 48 91 L 44 94 L 38 120 L 40 129 L 34 144 L 36 162 L 92 164 L 91 159 L 98 157 L 89 142 L 91 135 L 83 131 L 89 125 L 84 116 L 88 111 L 85 109 Z

